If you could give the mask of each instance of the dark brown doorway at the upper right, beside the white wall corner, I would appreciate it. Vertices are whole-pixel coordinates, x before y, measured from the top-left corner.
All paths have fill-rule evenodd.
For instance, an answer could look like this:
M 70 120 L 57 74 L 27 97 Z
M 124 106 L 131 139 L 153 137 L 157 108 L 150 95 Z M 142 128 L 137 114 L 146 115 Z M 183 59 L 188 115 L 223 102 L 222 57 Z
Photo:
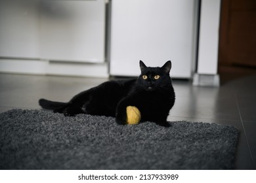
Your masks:
M 219 36 L 221 82 L 256 74 L 256 1 L 223 0 Z

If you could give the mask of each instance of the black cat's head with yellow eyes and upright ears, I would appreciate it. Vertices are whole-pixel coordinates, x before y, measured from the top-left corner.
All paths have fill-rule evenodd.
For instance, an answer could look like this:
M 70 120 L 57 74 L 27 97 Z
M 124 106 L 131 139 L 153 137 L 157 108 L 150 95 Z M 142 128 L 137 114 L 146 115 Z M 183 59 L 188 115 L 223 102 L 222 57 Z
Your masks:
M 146 67 L 140 60 L 141 74 L 137 84 L 145 90 L 158 90 L 171 84 L 169 73 L 171 71 L 171 61 L 167 61 L 162 67 Z

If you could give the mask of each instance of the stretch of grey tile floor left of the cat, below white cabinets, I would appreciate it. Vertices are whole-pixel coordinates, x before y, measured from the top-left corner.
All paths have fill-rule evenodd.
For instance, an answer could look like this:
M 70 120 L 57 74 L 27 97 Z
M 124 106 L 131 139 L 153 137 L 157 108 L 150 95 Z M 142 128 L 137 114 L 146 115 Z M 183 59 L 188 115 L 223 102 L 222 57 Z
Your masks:
M 0 75 L 1 107 L 39 108 L 40 98 L 69 101 L 106 79 L 62 76 Z

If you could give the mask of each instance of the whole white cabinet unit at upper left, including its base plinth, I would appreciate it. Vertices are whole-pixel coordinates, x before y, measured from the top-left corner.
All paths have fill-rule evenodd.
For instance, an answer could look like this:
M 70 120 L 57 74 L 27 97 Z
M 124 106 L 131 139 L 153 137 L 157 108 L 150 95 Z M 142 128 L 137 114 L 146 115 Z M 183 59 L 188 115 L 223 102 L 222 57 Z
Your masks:
M 105 0 L 1 0 L 0 72 L 107 77 L 105 20 Z

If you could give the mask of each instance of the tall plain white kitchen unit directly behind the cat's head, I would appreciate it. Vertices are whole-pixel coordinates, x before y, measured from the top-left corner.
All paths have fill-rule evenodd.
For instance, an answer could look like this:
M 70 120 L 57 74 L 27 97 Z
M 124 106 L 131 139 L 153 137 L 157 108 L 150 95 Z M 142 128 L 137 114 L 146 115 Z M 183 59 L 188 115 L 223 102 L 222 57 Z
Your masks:
M 191 78 L 197 22 L 196 0 L 112 0 L 110 75 L 138 76 L 139 60 L 171 60 L 173 78 Z

